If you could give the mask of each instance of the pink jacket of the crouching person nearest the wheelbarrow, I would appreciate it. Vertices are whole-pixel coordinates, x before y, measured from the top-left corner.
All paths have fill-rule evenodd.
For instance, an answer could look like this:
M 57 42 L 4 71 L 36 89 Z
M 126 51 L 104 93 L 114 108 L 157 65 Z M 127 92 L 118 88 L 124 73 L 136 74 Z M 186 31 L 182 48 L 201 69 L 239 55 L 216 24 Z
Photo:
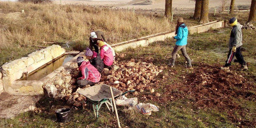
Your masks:
M 94 83 L 100 81 L 101 75 L 99 71 L 89 61 L 83 61 L 79 67 L 79 71 L 82 72 L 82 77 L 79 77 L 78 80 L 89 80 Z

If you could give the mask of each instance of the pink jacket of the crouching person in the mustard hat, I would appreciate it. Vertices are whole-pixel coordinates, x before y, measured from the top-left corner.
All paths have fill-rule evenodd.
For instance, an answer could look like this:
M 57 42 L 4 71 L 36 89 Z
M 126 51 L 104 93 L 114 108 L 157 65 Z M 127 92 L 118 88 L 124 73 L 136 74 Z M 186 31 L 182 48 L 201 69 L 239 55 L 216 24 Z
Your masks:
M 107 46 L 103 45 L 100 47 L 100 58 L 103 60 L 103 63 L 107 66 L 110 66 L 113 64 L 114 57 L 112 50 Z

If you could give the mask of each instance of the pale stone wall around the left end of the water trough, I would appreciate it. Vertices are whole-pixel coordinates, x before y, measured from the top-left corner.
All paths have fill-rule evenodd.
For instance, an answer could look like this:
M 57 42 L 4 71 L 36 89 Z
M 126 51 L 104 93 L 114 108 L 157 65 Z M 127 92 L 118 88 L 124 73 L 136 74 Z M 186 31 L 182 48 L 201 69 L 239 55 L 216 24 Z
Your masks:
M 3 86 L 5 92 L 13 95 L 38 95 L 43 93 L 43 82 L 27 81 L 19 84 L 18 79 L 23 72 L 32 72 L 44 64 L 52 61 L 65 53 L 65 49 L 59 45 L 48 46 L 45 49 L 33 52 L 28 57 L 13 60 L 2 66 Z M 14 82 L 15 81 L 15 82 Z M 14 83 L 13 83 L 14 82 Z M 1 84 L 0 84 L 1 89 Z

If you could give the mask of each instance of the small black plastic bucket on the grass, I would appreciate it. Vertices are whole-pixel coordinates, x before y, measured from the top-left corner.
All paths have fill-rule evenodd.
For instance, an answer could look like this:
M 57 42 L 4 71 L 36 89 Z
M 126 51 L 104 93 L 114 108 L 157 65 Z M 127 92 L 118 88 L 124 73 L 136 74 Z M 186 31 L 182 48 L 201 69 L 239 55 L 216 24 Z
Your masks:
M 70 121 L 70 108 L 60 108 L 55 111 L 57 116 L 57 121 L 61 123 L 66 123 Z

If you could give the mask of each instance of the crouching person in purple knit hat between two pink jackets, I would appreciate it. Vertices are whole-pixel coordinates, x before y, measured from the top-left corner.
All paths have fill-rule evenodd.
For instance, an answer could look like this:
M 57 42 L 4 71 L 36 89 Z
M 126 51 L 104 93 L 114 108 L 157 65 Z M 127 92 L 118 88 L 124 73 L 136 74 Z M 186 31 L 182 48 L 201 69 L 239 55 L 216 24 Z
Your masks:
M 104 68 L 104 63 L 100 59 L 100 55 L 97 52 L 92 52 L 89 48 L 86 48 L 85 56 L 87 59 L 89 59 L 91 65 L 93 65 L 101 73 Z

